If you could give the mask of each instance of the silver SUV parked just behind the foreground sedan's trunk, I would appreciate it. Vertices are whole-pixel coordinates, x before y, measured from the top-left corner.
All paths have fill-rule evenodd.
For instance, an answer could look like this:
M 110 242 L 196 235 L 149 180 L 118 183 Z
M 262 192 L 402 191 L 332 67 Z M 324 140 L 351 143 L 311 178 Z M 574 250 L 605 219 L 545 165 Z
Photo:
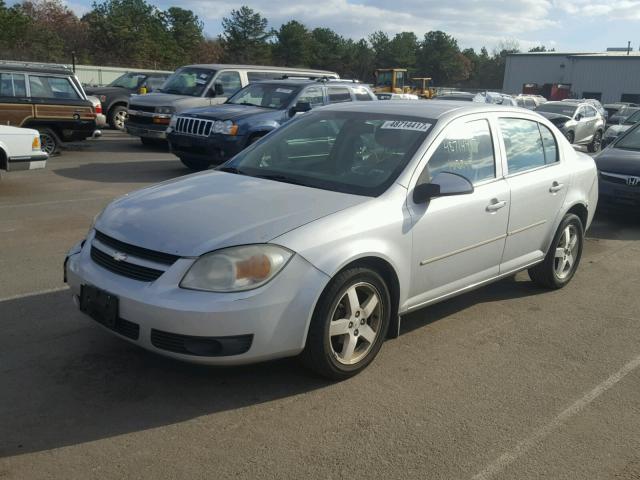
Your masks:
M 567 137 L 573 145 L 586 145 L 591 153 L 602 148 L 605 119 L 588 102 L 547 102 L 536 108 Z

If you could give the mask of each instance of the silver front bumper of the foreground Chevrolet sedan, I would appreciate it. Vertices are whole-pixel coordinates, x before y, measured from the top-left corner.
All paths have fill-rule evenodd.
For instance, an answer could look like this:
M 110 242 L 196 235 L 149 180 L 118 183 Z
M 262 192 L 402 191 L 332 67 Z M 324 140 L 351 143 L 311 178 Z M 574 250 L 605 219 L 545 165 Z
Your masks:
M 66 280 L 76 304 L 83 285 L 117 296 L 119 321 L 109 331 L 147 350 L 193 363 L 234 365 L 300 353 L 315 303 L 329 281 L 326 274 L 294 255 L 271 282 L 247 292 L 179 288 L 194 262 L 191 258 L 180 258 L 153 282 L 141 282 L 96 264 L 90 254 L 92 237 L 93 233 L 65 260 Z M 198 339 L 222 337 L 231 342 L 227 346 L 231 350 L 238 348 L 237 342 L 250 339 L 250 347 L 233 355 L 179 353 L 176 339 L 185 337 L 196 344 Z

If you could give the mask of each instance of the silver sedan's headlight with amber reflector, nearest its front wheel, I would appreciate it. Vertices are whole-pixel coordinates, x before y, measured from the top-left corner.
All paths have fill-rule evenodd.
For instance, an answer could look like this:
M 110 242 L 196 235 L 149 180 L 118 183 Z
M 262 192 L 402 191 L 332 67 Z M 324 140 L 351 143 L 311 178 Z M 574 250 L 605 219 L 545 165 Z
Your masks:
M 246 245 L 207 253 L 191 266 L 182 288 L 240 292 L 258 288 L 284 268 L 293 252 L 277 245 Z

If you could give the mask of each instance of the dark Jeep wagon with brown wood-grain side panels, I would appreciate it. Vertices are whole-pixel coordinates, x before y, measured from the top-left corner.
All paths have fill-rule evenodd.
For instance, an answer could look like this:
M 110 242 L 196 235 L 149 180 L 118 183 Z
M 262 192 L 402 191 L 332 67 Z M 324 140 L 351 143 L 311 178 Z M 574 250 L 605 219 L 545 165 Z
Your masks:
M 96 112 L 69 68 L 0 62 L 0 123 L 40 132 L 42 150 L 84 140 L 96 130 Z

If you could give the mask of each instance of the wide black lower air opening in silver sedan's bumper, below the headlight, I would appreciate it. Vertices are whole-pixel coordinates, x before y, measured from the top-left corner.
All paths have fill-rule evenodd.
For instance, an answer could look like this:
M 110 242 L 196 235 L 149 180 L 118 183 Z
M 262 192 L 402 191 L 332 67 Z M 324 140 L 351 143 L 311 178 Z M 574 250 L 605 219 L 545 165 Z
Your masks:
M 251 348 L 253 335 L 230 337 L 195 337 L 151 330 L 151 344 L 161 350 L 198 357 L 226 357 L 240 355 Z

